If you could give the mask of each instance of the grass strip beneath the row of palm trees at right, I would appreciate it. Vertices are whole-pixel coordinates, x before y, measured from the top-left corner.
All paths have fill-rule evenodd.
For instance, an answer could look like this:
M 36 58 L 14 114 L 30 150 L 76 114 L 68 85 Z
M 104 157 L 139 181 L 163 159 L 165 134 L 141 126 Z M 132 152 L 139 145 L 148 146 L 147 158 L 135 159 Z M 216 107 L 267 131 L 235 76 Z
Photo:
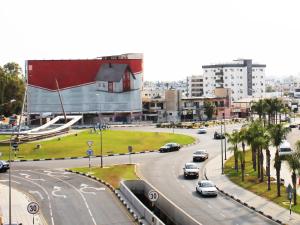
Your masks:
M 286 187 L 281 186 L 281 197 L 277 197 L 276 181 L 271 178 L 271 190 L 268 191 L 267 176 L 264 177 L 264 182 L 260 183 L 257 179 L 257 173 L 252 168 L 251 151 L 246 151 L 246 168 L 245 168 L 245 181 L 242 182 L 241 172 L 238 173 L 234 170 L 234 157 L 231 157 L 225 163 L 224 172 L 229 179 L 237 185 L 252 191 L 253 193 L 269 199 L 278 205 L 289 209 L 289 200 L 287 199 Z M 239 165 L 240 166 L 240 165 Z M 272 162 L 271 162 L 271 166 Z M 239 167 L 240 168 L 240 167 Z M 300 198 L 297 197 L 298 205 L 292 206 L 292 211 L 300 213 Z

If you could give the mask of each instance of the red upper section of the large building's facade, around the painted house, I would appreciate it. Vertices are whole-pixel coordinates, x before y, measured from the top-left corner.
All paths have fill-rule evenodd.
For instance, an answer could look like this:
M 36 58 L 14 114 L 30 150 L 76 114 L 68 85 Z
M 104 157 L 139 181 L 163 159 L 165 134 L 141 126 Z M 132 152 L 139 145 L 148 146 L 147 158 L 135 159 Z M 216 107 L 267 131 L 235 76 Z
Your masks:
M 49 90 L 71 88 L 95 82 L 104 63 L 128 64 L 133 73 L 142 72 L 142 59 L 28 60 L 28 84 Z

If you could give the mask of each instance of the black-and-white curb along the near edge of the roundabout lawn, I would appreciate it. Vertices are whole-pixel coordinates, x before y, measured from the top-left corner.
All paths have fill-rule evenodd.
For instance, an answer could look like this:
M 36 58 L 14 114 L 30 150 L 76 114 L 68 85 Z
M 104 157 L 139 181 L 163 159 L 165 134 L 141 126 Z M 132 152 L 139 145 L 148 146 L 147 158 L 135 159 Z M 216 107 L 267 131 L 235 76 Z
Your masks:
M 182 147 L 188 147 L 188 146 L 195 145 L 198 143 L 199 143 L 199 140 L 196 139 L 193 143 L 182 145 Z M 141 151 L 141 152 L 107 154 L 107 155 L 103 155 L 103 157 L 120 156 L 120 155 L 137 155 L 137 154 L 144 154 L 144 153 L 151 153 L 151 152 L 159 152 L 159 150 L 145 150 L 145 151 Z M 101 155 L 95 155 L 91 158 L 100 158 L 100 157 L 101 157 Z M 60 158 L 45 158 L 45 159 L 17 159 L 17 160 L 11 160 L 11 162 L 33 162 L 33 161 L 67 160 L 67 159 L 83 159 L 83 158 L 88 158 L 88 156 L 78 156 L 78 157 L 69 156 L 69 157 L 64 157 L 64 158 L 60 157 Z M 7 162 L 9 162 L 9 160 L 7 160 Z

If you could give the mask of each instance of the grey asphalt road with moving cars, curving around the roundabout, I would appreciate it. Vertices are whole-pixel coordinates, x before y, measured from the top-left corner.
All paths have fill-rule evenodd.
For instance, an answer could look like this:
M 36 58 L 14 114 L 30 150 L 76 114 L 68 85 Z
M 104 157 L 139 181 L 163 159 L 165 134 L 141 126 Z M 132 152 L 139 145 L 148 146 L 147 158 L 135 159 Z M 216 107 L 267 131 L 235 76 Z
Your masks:
M 239 125 L 227 126 L 227 131 L 239 127 Z M 172 129 L 157 129 L 153 127 L 136 127 L 130 129 L 156 132 L 173 132 Z M 196 130 L 193 129 L 175 129 L 176 133 L 186 133 L 198 137 L 200 143 L 194 146 L 183 148 L 178 152 L 136 154 L 131 156 L 131 160 L 133 163 L 137 163 L 139 165 L 139 173 L 144 179 L 150 182 L 166 197 L 168 197 L 171 201 L 173 201 L 202 224 L 275 224 L 274 222 L 262 217 L 246 207 L 243 207 L 241 204 L 232 201 L 222 194 L 219 194 L 217 198 L 203 198 L 195 192 L 197 180 L 186 180 L 183 178 L 183 165 L 192 160 L 192 153 L 195 150 L 199 148 L 206 149 L 209 152 L 210 158 L 213 158 L 221 153 L 220 140 L 214 140 L 212 138 L 215 130 L 220 130 L 220 127 L 208 128 L 208 133 L 201 135 L 196 134 Z M 104 157 L 104 165 L 128 162 L 129 156 L 127 155 Z M 14 165 L 16 169 L 18 169 L 22 168 L 23 166 L 24 168 L 27 168 L 27 166 L 31 164 L 32 162 L 22 162 L 15 163 Z M 92 159 L 92 164 L 99 165 L 100 158 Z M 87 166 L 88 159 L 40 161 L 34 162 L 34 165 L 36 167 L 48 169 L 71 168 Z M 201 173 L 203 174 L 205 162 L 198 163 L 198 165 Z M 221 166 L 221 163 L 220 165 L 216 165 L 216 167 L 218 166 Z M 200 179 L 201 177 L 202 176 L 200 176 Z M 50 189 L 53 191 L 53 183 L 51 188 Z M 77 196 L 75 199 L 79 199 L 79 196 Z M 73 207 L 77 207 L 76 202 L 73 202 L 72 204 Z M 99 202 L 99 204 L 101 204 L 101 202 Z M 56 208 L 57 205 L 55 204 L 53 207 Z M 98 210 L 98 212 L 100 212 L 100 210 Z

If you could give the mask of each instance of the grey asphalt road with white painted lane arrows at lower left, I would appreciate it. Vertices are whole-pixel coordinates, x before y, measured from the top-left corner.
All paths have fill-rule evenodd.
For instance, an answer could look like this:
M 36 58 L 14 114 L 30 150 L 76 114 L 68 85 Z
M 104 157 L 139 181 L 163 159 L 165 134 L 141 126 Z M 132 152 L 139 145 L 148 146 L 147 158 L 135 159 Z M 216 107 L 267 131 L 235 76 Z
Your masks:
M 135 224 L 116 196 L 97 181 L 61 170 L 17 167 L 13 187 L 39 203 L 49 225 Z M 7 179 L 7 173 L 0 175 L 0 180 Z

